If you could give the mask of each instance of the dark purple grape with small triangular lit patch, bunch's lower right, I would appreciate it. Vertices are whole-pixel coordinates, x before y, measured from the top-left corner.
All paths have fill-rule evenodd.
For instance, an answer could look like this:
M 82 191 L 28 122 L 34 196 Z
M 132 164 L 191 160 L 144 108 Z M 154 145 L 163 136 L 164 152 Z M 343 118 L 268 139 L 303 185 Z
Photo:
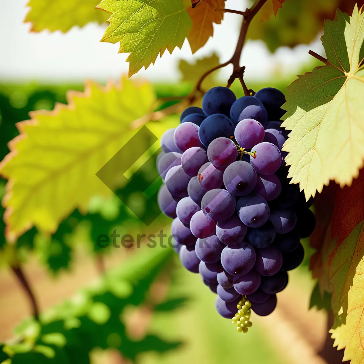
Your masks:
M 282 268 L 282 254 L 274 245 L 257 249 L 256 254 L 255 269 L 262 276 L 273 276 Z

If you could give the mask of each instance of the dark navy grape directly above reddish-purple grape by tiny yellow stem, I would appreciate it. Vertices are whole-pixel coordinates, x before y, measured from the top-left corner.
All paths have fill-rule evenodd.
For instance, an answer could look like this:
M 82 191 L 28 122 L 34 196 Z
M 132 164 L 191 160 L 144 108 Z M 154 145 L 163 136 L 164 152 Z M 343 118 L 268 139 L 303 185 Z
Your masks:
M 201 123 L 198 136 L 201 143 L 207 148 L 217 138 L 229 138 L 234 135 L 234 126 L 231 120 L 223 114 L 207 116 Z

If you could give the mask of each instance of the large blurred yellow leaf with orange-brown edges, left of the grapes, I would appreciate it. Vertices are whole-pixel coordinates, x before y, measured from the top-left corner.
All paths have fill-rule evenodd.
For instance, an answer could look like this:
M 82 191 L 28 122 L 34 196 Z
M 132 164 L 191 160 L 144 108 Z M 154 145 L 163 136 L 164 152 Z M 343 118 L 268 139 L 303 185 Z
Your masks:
M 95 174 L 135 133 L 130 123 L 150 111 L 155 95 L 150 84 L 124 79 L 122 88 L 88 82 L 84 93 L 69 91 L 67 99 L 18 123 L 21 134 L 1 162 L 10 179 L 3 200 L 10 240 L 33 225 L 54 232 L 76 207 L 86 211 L 92 196 L 110 195 Z

